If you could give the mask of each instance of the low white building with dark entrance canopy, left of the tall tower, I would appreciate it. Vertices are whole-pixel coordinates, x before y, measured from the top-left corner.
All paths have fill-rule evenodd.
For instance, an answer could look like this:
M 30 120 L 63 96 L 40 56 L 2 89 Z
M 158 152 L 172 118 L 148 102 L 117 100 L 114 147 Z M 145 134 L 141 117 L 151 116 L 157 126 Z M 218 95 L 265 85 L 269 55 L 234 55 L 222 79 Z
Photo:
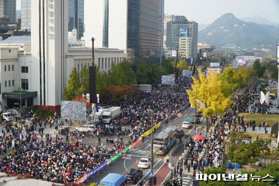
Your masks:
M 0 101 L 5 106 L 19 107 L 20 99 L 23 106 L 36 104 L 37 91 L 31 90 L 30 74 L 34 71 L 30 43 L 30 36 L 12 36 L 0 41 Z

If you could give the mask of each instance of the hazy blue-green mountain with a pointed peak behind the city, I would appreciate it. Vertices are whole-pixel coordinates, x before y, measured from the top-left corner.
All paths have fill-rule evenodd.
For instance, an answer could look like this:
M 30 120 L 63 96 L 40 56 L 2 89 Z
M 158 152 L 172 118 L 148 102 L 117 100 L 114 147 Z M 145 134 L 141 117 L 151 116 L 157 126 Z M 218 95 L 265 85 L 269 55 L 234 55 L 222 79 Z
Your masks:
M 227 13 L 199 31 L 198 40 L 215 46 L 225 44 L 240 47 L 276 46 L 278 33 L 276 26 L 244 22 L 232 13 Z

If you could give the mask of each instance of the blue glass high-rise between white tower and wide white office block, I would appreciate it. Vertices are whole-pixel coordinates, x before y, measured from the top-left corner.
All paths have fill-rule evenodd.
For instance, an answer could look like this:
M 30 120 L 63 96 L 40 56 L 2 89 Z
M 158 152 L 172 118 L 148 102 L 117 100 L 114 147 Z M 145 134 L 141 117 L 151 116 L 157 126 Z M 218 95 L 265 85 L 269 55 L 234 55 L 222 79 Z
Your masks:
M 68 31 L 77 29 L 77 39 L 83 36 L 84 32 L 84 0 L 68 0 Z

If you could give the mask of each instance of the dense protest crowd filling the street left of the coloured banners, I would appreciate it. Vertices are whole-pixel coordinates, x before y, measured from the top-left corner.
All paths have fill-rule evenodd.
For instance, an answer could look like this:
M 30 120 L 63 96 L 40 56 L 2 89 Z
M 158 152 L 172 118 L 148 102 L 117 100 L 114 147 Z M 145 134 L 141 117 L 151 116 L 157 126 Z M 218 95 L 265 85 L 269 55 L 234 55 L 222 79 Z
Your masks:
M 2 123 L 5 129 L 2 127 L 0 133 L 0 172 L 27 175 L 55 183 L 75 182 L 94 167 L 111 158 L 94 153 L 117 154 L 151 128 L 151 116 L 138 112 L 152 110 L 155 126 L 187 104 L 186 93 L 171 95 L 155 91 L 141 93 L 138 101 L 126 100 L 116 103 L 121 106 L 121 116 L 110 123 L 109 127 L 102 126 L 95 130 L 98 137 L 117 136 L 118 140 L 114 142 L 112 148 L 86 146 L 80 143 L 81 135 L 74 136 L 70 133 L 64 137 L 58 135 L 51 137 L 47 132 L 44 133 L 44 128 L 46 125 L 50 128 L 61 125 L 57 116 L 39 121 L 35 117 L 28 118 L 31 115 L 23 114 L 23 119 L 26 119 L 23 130 L 19 123 L 15 126 Z M 123 130 L 123 126 L 127 128 Z M 128 126 L 131 127 L 131 131 Z M 127 138 L 128 133 L 130 139 L 123 143 L 121 135 Z M 109 142 L 108 138 L 107 142 Z

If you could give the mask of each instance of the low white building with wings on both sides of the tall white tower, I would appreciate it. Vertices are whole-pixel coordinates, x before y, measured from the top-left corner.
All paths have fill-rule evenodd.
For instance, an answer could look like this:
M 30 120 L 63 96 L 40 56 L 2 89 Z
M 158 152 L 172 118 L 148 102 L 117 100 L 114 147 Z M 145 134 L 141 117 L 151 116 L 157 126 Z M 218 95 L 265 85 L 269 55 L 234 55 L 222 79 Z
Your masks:
M 69 47 L 65 56 L 66 79 L 63 79 L 63 82 L 68 83 L 73 67 L 80 72 L 85 65 L 87 67 L 92 65 L 90 47 Z M 101 71 L 107 72 L 111 69 L 112 63 L 118 64 L 124 58 L 126 58 L 124 50 L 94 48 L 95 65 Z M 35 64 L 36 61 L 34 63 L 32 60 L 31 36 L 12 36 L 0 41 L 0 102 L 4 106 L 19 107 L 20 99 L 22 106 L 40 105 L 38 96 L 40 87 L 36 84 L 39 69 Z

